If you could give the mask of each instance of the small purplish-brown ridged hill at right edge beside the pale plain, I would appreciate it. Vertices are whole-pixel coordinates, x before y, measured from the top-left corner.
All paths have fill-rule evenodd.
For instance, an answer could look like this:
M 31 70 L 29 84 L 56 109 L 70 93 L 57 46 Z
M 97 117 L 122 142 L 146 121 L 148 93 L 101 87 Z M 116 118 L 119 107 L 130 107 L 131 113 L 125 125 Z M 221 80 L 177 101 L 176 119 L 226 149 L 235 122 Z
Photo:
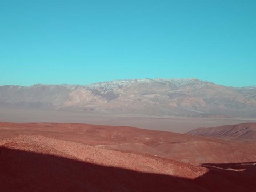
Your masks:
M 202 127 L 189 131 L 187 134 L 195 136 L 256 141 L 256 123 L 241 123 L 239 125 L 225 125 L 209 128 Z

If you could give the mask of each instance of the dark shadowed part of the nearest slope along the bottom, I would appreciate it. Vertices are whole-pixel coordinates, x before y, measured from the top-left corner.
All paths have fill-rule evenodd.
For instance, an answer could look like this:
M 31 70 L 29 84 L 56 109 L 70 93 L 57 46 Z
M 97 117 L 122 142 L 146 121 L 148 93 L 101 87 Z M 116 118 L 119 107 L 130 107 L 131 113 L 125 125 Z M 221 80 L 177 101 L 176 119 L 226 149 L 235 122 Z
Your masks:
M 255 191 L 253 163 L 241 172 L 211 168 L 192 180 L 5 147 L 0 157 L 1 191 Z

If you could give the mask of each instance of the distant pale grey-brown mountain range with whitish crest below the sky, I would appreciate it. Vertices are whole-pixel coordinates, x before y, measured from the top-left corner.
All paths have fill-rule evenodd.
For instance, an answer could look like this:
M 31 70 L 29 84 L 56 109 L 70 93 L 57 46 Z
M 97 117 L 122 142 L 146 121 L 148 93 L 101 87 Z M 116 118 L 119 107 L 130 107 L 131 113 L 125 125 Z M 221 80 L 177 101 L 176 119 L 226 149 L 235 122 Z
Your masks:
M 85 113 L 256 117 L 256 87 L 199 79 L 131 79 L 92 85 L 0 86 L 0 104 Z

